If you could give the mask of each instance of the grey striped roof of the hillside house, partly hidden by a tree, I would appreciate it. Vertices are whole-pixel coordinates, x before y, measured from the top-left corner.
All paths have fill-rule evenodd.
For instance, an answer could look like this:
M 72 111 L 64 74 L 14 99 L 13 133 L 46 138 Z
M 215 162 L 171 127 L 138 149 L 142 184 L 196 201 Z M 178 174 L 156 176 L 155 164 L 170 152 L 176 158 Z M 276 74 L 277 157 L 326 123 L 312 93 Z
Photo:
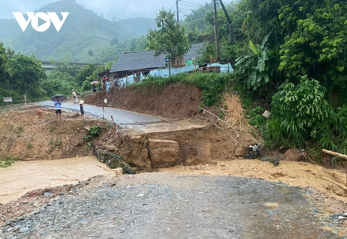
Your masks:
M 204 43 L 193 44 L 185 55 L 184 60 L 193 59 L 202 55 Z M 122 54 L 113 64 L 110 72 L 135 71 L 149 68 L 165 67 L 165 55 L 153 57 L 154 51 L 129 52 Z

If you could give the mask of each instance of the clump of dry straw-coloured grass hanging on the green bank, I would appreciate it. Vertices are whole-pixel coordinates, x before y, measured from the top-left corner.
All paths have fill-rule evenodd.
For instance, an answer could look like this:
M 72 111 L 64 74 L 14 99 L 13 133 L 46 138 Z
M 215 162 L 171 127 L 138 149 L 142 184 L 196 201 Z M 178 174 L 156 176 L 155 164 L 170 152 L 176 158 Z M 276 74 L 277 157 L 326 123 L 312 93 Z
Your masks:
M 242 129 L 247 125 L 245 114 L 246 110 L 242 107 L 241 100 L 236 94 L 225 93 L 222 100 L 224 105 L 223 113 L 225 114 L 225 121 L 232 127 Z

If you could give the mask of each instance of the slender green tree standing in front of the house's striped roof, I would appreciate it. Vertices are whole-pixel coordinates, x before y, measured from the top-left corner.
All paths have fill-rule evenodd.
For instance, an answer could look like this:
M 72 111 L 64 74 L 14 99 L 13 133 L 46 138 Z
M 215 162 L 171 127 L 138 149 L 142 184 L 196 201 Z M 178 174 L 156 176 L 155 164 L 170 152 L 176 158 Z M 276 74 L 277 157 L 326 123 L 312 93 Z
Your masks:
M 170 61 L 183 56 L 190 45 L 184 27 L 175 21 L 175 12 L 162 8 L 155 21 L 160 29 L 150 29 L 147 35 L 148 47 L 155 50 L 154 56 L 165 54 Z

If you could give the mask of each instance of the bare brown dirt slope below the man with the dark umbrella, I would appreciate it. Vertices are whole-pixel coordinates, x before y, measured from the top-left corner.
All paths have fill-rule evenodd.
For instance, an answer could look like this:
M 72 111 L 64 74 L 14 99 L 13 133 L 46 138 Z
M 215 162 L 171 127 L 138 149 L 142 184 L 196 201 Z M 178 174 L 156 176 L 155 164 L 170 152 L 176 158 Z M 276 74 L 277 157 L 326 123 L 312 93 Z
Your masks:
M 43 110 L 42 116 L 37 115 L 39 109 Z M 84 127 L 99 125 L 106 128 L 106 123 L 76 119 L 73 113 L 66 111 L 62 117 L 62 121 L 56 120 L 54 109 L 42 107 L 2 110 L 0 157 L 10 155 L 23 160 L 47 160 L 93 155 L 93 148 L 84 141 L 88 134 Z

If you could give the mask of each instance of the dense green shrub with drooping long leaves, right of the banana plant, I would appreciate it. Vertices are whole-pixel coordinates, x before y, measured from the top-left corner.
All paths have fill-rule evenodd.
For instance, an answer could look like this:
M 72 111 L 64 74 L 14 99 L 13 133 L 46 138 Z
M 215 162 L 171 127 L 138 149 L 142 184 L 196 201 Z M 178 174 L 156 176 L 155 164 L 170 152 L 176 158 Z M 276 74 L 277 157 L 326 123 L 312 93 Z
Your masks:
M 315 139 L 321 124 L 332 112 L 324 93 L 324 87 L 306 75 L 297 85 L 282 84 L 280 91 L 272 97 L 268 136 L 276 143 L 301 147 L 305 140 Z

